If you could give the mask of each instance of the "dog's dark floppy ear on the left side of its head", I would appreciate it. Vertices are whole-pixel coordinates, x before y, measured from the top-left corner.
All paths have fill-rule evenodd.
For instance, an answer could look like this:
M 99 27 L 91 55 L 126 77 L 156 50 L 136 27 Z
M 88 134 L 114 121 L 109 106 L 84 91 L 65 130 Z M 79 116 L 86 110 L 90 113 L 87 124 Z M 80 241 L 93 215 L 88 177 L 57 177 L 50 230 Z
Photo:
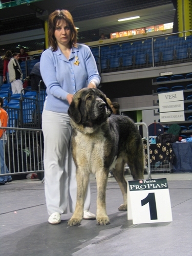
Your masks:
M 74 97 L 68 109 L 68 115 L 75 123 L 80 123 L 81 121 L 80 102 L 80 98 Z

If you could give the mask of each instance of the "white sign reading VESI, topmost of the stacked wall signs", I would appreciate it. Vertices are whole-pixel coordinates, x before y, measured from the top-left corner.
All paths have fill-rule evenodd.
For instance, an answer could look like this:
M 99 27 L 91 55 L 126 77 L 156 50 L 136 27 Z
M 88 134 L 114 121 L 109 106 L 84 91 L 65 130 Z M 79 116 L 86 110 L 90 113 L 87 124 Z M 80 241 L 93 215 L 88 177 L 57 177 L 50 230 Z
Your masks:
M 183 91 L 159 93 L 158 97 L 159 97 L 159 103 L 184 100 Z

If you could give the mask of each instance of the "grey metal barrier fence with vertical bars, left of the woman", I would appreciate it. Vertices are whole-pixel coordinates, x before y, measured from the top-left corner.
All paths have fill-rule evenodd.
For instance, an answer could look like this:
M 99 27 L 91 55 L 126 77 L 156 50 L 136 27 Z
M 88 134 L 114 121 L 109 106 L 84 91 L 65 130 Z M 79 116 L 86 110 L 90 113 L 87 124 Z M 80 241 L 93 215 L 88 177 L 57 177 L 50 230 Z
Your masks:
M 5 164 L 10 175 L 44 172 L 44 141 L 40 129 L 0 127 L 7 131 L 7 143 L 4 147 L 4 166 L 0 176 L 5 176 Z M 3 173 L 3 174 L 1 174 Z

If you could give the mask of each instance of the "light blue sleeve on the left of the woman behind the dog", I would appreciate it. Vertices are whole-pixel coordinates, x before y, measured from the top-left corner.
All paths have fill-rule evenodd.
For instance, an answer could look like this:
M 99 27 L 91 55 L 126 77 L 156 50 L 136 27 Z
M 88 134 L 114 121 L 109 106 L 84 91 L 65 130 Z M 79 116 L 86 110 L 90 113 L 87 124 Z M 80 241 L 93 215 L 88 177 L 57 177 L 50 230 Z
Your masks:
M 46 84 L 47 93 L 58 99 L 66 100 L 69 94 L 63 90 L 56 78 L 56 65 L 54 65 L 53 54 L 51 50 L 46 50 L 40 58 L 40 74 Z

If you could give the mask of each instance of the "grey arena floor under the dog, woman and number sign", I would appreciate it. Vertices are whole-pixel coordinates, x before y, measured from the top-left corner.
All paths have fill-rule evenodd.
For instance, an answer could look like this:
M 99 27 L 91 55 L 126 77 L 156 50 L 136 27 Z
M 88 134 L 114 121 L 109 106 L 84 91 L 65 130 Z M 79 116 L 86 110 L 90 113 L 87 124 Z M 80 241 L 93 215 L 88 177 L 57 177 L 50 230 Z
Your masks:
M 68 227 L 71 214 L 62 215 L 61 224 L 50 225 L 44 184 L 39 180 L 0 186 L 0 255 L 192 255 L 192 173 L 154 174 L 152 178 L 167 178 L 173 222 L 133 225 L 127 212 L 117 210 L 122 195 L 114 178 L 109 178 L 106 190 L 111 220 L 106 226 L 83 220 L 80 226 Z M 90 210 L 95 212 L 94 176 L 91 193 Z

